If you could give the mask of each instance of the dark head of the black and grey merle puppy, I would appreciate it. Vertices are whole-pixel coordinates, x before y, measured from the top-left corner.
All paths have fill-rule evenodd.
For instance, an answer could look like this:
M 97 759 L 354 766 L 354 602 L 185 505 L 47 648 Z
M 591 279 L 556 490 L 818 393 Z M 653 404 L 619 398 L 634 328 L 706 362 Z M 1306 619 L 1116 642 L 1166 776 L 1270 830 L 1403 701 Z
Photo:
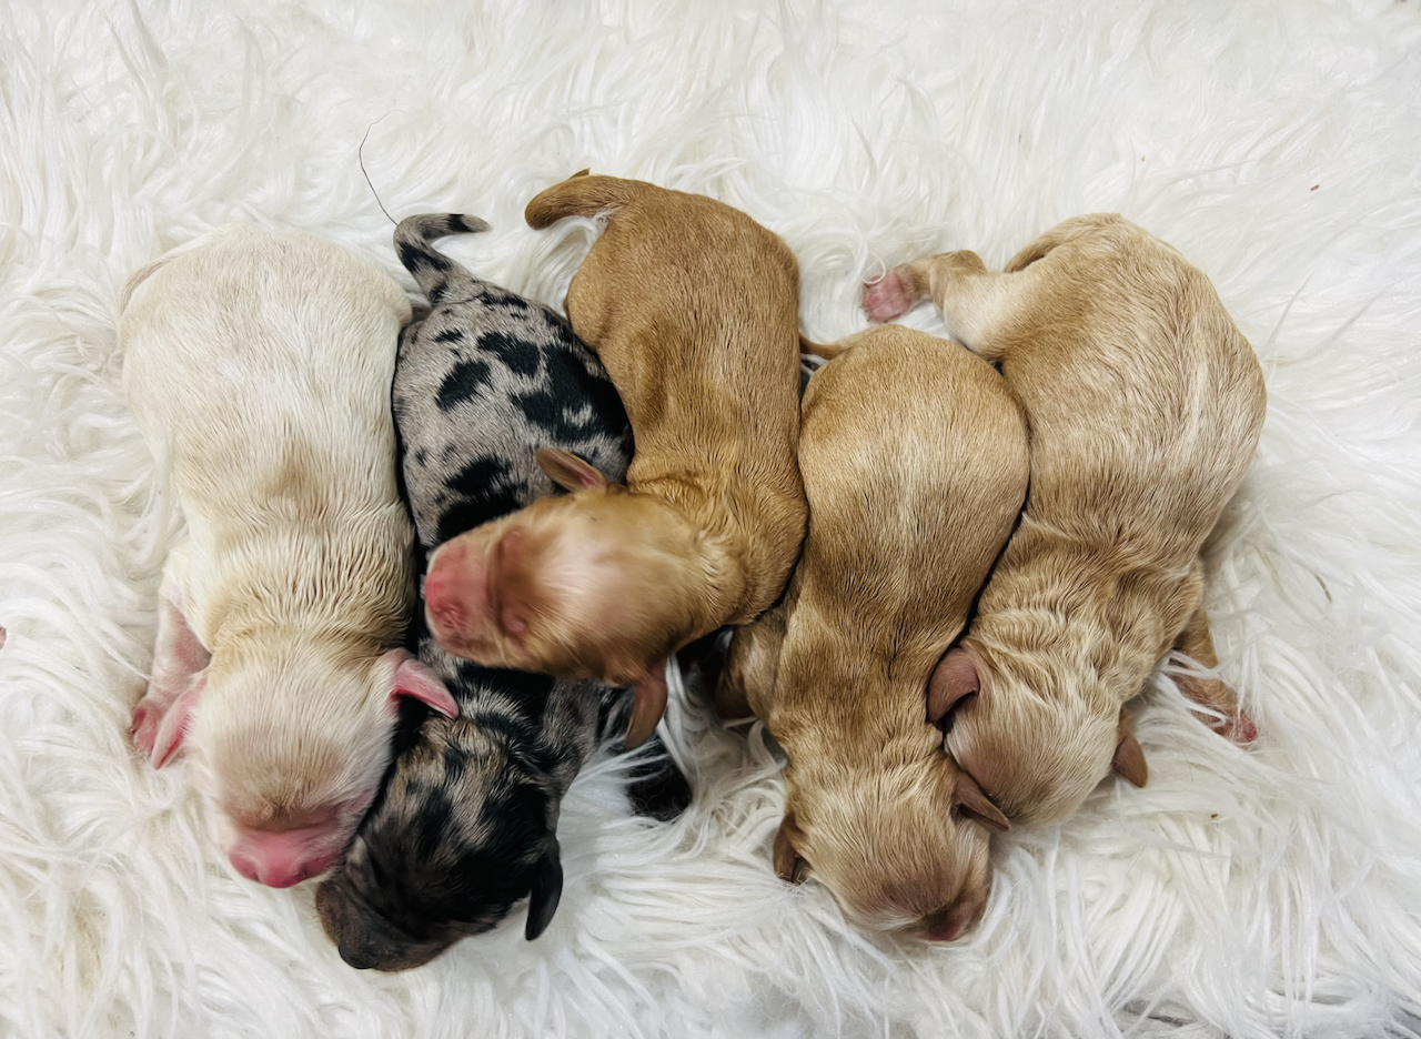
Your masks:
M 563 890 L 556 807 L 537 769 L 506 733 L 429 718 L 317 891 L 341 958 L 379 971 L 419 967 L 529 895 L 524 935 L 537 938 Z

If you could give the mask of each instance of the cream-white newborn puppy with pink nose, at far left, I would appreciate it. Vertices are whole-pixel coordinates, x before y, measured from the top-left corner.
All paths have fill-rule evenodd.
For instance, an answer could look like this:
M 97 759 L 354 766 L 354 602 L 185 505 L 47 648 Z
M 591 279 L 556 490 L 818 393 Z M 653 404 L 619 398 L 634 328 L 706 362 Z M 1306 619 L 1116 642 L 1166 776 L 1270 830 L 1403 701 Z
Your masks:
M 340 857 L 401 698 L 458 711 L 396 648 L 415 591 L 389 416 L 408 320 L 357 253 L 237 223 L 124 293 L 124 388 L 188 520 L 134 743 L 155 768 L 196 752 L 225 853 L 271 887 Z

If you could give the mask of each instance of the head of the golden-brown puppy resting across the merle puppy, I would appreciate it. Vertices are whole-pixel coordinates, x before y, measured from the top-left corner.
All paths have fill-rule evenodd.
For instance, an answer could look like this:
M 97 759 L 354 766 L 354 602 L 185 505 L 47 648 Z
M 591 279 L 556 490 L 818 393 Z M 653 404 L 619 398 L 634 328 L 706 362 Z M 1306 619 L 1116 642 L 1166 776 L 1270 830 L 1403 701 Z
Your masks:
M 665 708 L 666 658 L 698 634 L 698 532 L 574 455 L 543 449 L 539 463 L 573 493 L 442 544 L 425 576 L 429 630 L 485 667 L 634 687 L 635 746 Z

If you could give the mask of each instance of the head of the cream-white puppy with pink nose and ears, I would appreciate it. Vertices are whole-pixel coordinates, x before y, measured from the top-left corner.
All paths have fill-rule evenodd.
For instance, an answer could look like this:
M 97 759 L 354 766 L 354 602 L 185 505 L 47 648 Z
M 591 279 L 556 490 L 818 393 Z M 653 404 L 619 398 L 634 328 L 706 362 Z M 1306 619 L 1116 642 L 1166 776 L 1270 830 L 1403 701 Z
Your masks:
M 239 641 L 213 657 L 192 716 L 172 728 L 182 742 L 190 722 L 217 840 L 239 873 L 290 887 L 335 863 L 379 786 L 404 698 L 458 712 L 402 650 L 372 660 L 311 640 Z

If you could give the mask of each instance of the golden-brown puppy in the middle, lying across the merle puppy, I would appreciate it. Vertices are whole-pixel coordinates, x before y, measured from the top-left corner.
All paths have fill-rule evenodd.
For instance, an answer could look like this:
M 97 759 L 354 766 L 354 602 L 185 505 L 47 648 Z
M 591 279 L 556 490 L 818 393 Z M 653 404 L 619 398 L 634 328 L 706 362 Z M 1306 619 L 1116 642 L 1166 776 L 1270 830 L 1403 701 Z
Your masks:
M 576 176 L 527 222 L 604 212 L 567 313 L 627 405 L 627 486 L 539 452 L 574 493 L 443 544 L 425 601 L 456 655 L 634 685 L 635 746 L 665 709 L 666 658 L 763 613 L 799 554 L 799 267 L 745 213 L 639 181 Z

